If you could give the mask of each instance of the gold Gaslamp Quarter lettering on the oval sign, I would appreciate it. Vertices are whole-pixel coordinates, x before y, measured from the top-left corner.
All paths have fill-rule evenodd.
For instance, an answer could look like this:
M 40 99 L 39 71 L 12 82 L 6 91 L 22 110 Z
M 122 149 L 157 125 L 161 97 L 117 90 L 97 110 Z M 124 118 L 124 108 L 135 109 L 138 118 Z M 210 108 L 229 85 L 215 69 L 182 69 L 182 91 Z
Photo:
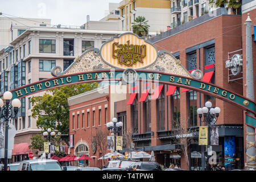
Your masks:
M 127 67 L 132 67 L 139 61 L 143 63 L 144 57 L 146 57 L 146 45 L 134 45 L 130 44 L 130 40 L 126 44 L 119 44 L 114 42 L 112 44 L 112 56 L 118 60 L 119 64 L 125 64 Z

